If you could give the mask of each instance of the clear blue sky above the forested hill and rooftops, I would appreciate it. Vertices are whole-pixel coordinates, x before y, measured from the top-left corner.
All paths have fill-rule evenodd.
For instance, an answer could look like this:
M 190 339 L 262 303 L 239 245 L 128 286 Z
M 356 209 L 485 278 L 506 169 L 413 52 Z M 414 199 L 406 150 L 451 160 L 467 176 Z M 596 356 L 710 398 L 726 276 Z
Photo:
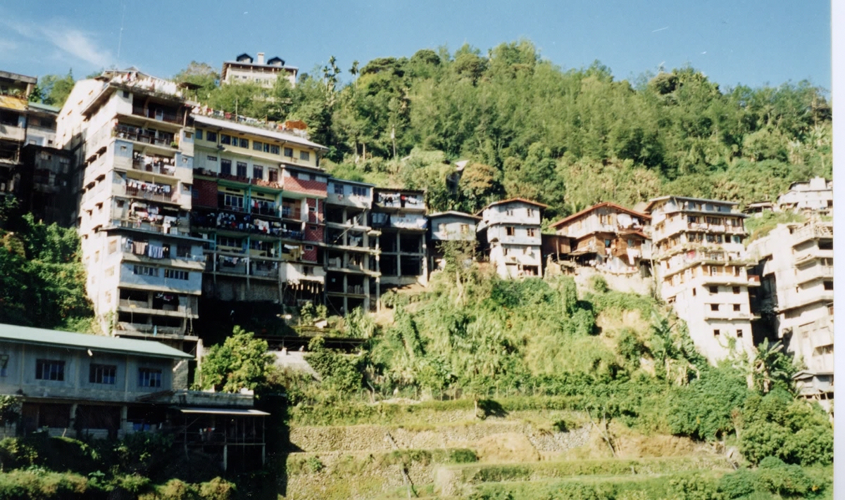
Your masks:
M 617 79 L 690 64 L 722 87 L 809 79 L 831 88 L 831 4 L 818 0 L 0 0 L 0 69 L 35 76 L 116 64 L 169 77 L 241 52 L 306 72 L 334 55 L 346 72 L 356 59 L 465 42 L 487 52 L 521 37 L 562 68 L 598 59 Z

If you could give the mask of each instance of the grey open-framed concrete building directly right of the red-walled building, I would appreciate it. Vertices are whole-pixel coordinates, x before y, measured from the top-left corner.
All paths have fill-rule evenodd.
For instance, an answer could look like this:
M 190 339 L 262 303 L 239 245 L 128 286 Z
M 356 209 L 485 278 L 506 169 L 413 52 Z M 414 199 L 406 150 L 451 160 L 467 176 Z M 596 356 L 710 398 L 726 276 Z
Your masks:
M 346 314 L 378 307 L 379 236 L 370 226 L 372 184 L 329 179 L 325 208 L 325 293 L 329 310 Z

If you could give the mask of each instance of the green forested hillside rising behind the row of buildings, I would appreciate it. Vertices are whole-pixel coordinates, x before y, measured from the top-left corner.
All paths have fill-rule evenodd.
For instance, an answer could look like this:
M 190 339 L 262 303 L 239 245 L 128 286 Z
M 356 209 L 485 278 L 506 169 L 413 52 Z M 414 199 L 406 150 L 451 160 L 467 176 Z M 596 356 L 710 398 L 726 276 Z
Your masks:
M 548 218 L 666 193 L 748 203 L 831 177 L 831 106 L 808 82 L 725 87 L 694 68 L 618 80 L 600 63 L 561 68 L 530 41 L 358 66 L 331 58 L 294 89 L 220 87 L 202 63 L 175 78 L 215 109 L 302 119 L 330 146 L 330 171 L 426 188 L 438 210 L 513 196 L 551 205 Z M 455 160 L 471 160 L 457 186 Z

